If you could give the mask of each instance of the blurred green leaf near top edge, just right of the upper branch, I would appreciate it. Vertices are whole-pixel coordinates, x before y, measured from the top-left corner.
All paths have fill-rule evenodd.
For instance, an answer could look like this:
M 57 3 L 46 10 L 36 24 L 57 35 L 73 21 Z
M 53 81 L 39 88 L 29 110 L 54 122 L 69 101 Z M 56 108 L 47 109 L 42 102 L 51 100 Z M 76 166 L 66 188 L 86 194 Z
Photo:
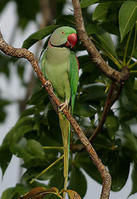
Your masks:
M 111 3 L 100 3 L 93 12 L 92 19 L 95 20 L 102 20 L 104 17 L 106 17 L 108 9 L 110 7 Z

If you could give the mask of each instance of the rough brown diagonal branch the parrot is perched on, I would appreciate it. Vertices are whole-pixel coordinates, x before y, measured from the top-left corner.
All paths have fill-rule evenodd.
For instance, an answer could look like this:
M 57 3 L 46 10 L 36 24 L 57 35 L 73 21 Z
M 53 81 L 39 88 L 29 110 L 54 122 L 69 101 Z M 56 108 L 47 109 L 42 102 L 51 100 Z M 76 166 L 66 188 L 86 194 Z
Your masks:
M 44 76 L 38 66 L 38 61 L 37 61 L 37 59 L 35 59 L 34 54 L 32 52 L 28 51 L 25 48 L 14 48 L 14 47 L 8 45 L 5 42 L 5 40 L 3 39 L 1 33 L 0 33 L 0 49 L 6 55 L 27 59 L 31 63 L 33 69 L 35 70 L 38 78 L 40 79 L 42 85 L 45 87 L 49 96 L 52 98 L 52 100 L 55 102 L 55 104 L 57 106 L 60 106 L 60 104 L 61 104 L 60 101 L 57 99 L 57 97 L 53 93 L 52 86 L 51 86 L 50 82 L 44 78 Z M 111 176 L 110 176 L 109 172 L 107 171 L 106 167 L 103 165 L 101 160 L 99 159 L 96 151 L 90 144 L 89 140 L 83 133 L 82 129 L 80 128 L 80 126 L 78 125 L 76 120 L 69 114 L 67 108 L 63 109 L 63 113 L 66 116 L 66 118 L 70 121 L 72 127 L 76 131 L 81 142 L 83 143 L 84 147 L 86 148 L 87 152 L 89 153 L 93 163 L 96 165 L 98 171 L 100 172 L 100 175 L 103 180 L 103 188 L 102 188 L 102 193 L 101 193 L 100 199 L 108 199 L 110 187 L 111 187 Z

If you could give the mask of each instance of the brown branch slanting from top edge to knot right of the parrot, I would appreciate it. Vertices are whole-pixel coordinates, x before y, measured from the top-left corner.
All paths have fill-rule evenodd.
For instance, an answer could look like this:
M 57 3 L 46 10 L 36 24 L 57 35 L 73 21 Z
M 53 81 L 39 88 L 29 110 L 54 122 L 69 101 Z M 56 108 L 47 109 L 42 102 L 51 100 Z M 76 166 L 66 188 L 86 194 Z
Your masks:
M 125 67 L 125 70 L 122 70 L 121 72 L 111 68 L 101 57 L 95 45 L 88 37 L 87 32 L 85 30 L 85 26 L 84 26 L 84 21 L 82 17 L 82 11 L 81 11 L 79 0 L 72 0 L 72 4 L 74 7 L 74 16 L 75 16 L 76 28 L 78 31 L 79 39 L 81 40 L 82 44 L 87 49 L 92 61 L 96 63 L 99 69 L 101 69 L 101 71 L 110 79 L 115 80 L 117 82 L 123 82 L 127 80 L 129 77 L 128 68 Z

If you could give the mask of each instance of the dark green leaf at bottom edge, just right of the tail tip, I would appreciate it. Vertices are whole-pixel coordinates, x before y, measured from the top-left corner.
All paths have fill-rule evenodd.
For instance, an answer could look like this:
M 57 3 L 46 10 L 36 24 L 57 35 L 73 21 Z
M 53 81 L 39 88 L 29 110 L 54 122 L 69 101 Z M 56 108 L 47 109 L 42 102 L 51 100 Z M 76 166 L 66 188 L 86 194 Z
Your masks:
M 72 167 L 69 189 L 78 192 L 82 198 L 87 191 L 87 180 L 82 171 L 75 167 L 75 165 Z

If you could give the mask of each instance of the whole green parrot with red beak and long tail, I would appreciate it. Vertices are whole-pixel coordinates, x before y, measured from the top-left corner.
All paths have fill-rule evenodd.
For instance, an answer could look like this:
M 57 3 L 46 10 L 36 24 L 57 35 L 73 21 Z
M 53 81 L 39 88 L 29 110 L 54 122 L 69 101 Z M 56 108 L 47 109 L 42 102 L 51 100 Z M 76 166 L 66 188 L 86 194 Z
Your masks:
M 78 60 L 71 51 L 77 43 L 77 34 L 74 28 L 63 26 L 57 28 L 51 35 L 48 47 L 41 60 L 44 76 L 53 86 L 56 96 L 61 101 L 61 110 L 67 106 L 73 114 L 75 96 L 78 87 Z M 58 111 L 59 124 L 62 132 L 64 147 L 64 189 L 67 189 L 70 123 L 61 111 Z

